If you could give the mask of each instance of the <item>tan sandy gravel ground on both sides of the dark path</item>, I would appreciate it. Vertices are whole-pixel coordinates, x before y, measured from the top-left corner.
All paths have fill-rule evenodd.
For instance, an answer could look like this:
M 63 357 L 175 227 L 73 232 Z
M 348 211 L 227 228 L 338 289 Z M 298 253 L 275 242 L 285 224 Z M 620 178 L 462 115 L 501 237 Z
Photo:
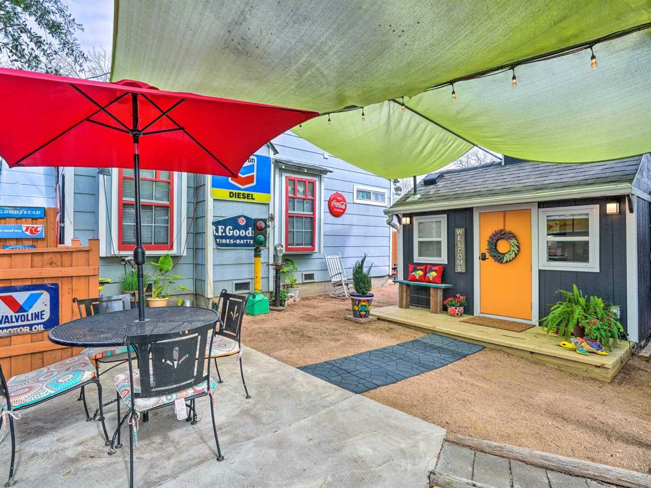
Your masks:
M 397 302 L 393 285 L 373 292 L 374 306 Z M 242 340 L 303 366 L 425 333 L 346 321 L 348 307 L 327 296 L 303 298 L 285 312 L 247 317 Z M 452 432 L 651 473 L 651 364 L 635 357 L 607 384 L 484 349 L 365 395 Z

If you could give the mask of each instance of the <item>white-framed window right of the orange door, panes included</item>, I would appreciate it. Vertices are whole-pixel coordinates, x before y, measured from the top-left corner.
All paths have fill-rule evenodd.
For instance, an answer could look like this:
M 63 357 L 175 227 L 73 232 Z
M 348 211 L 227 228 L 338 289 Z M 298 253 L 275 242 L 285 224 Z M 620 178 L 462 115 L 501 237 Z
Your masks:
M 538 210 L 540 269 L 599 271 L 599 206 Z

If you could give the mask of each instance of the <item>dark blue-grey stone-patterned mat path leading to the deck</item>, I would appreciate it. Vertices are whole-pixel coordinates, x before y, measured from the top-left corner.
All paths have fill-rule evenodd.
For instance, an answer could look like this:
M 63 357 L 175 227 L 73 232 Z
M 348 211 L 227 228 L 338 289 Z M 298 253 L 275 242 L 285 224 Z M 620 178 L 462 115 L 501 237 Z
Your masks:
M 364 393 L 380 386 L 443 368 L 483 346 L 428 334 L 419 339 L 381 347 L 307 366 L 299 370 L 353 393 Z

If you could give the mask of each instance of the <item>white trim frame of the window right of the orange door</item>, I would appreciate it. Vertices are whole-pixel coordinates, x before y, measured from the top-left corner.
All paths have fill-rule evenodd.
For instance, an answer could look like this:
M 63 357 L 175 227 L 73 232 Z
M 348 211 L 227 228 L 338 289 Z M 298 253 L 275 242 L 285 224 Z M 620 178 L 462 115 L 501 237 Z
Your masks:
M 587 263 L 579 262 L 550 262 L 547 261 L 547 216 L 559 213 L 566 214 L 588 214 L 588 229 L 589 229 L 589 261 Z M 583 271 L 589 273 L 599 273 L 599 217 L 600 206 L 596 205 L 579 205 L 569 207 L 556 207 L 556 208 L 539 208 L 538 209 L 538 269 L 547 269 L 550 271 Z M 577 239 L 572 237 L 558 237 L 552 239 L 555 241 L 579 241 L 585 239 Z

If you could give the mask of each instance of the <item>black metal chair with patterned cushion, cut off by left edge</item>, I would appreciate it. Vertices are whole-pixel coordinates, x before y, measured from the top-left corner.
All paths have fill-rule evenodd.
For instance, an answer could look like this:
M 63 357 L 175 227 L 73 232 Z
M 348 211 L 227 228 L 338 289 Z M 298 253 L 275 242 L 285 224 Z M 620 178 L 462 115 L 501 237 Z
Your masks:
M 40 405 L 40 403 L 57 398 L 57 396 L 77 388 L 83 388 L 90 383 L 97 386 L 100 400 L 100 421 L 104 430 L 105 444 L 108 445 L 109 435 L 104 424 L 104 410 L 102 409 L 102 385 L 100 385 L 96 370 L 88 357 L 75 356 L 64 359 L 33 372 L 12 376 L 8 381 L 5 380 L 5 374 L 0 365 L 0 440 L 7 428 L 7 422 L 11 433 L 11 463 L 9 480 L 5 487 L 11 486 L 14 478 L 14 461 L 16 459 L 14 418 L 20 418 L 18 412 Z M 86 416 L 88 417 L 87 409 Z

